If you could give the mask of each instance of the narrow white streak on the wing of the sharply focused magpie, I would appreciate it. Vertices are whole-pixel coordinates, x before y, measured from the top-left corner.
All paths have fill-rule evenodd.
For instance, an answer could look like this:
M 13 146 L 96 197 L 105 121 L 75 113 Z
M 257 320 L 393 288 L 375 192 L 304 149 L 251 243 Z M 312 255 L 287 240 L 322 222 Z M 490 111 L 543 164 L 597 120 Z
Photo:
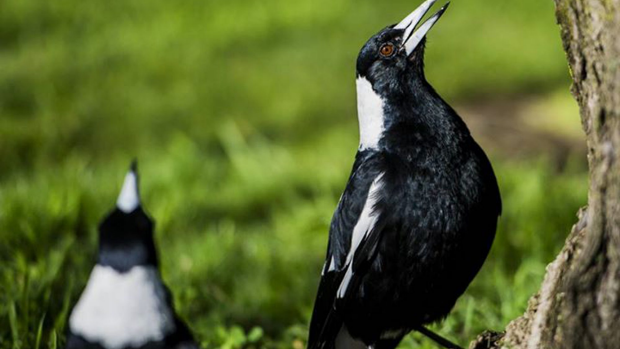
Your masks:
M 353 256 L 355 255 L 355 251 L 359 247 L 359 244 L 362 240 L 373 230 L 375 223 L 377 222 L 377 218 L 379 218 L 379 212 L 377 212 L 374 207 L 377 203 L 377 192 L 381 190 L 383 184 L 381 183 L 381 179 L 383 178 L 383 174 L 380 174 L 375 178 L 370 186 L 370 190 L 368 191 L 368 196 L 366 197 L 366 202 L 364 203 L 364 208 L 362 209 L 362 213 L 353 228 L 353 236 L 351 238 L 351 249 L 347 254 L 347 259 L 345 265 L 347 266 L 347 271 L 338 287 L 338 298 L 344 297 L 347 287 L 349 287 L 349 282 L 351 281 L 351 277 L 353 276 Z

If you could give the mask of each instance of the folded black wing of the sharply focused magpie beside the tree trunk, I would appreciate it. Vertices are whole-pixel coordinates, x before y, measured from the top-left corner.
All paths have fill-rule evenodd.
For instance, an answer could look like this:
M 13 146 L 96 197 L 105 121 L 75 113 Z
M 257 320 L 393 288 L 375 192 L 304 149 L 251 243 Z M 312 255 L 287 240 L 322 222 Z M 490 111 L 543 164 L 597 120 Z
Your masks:
M 374 258 L 381 237 L 380 215 L 374 217 L 372 229 L 360 235 L 357 248 L 348 259 L 347 256 L 352 248 L 353 232 L 362 217 L 362 211 L 367 213 L 364 210 L 366 201 L 370 195 L 376 194 L 371 193 L 371 187 L 380 181 L 380 162 L 377 153 L 357 154 L 347 187 L 332 218 L 327 257 L 310 321 L 309 349 L 334 348 L 343 323 L 338 308 L 355 293 L 352 290 L 359 288 L 361 278 Z M 380 200 L 378 197 L 374 199 Z M 378 214 L 374 212 L 374 207 L 370 209 L 374 214 Z M 346 287 L 343 286 L 345 280 Z

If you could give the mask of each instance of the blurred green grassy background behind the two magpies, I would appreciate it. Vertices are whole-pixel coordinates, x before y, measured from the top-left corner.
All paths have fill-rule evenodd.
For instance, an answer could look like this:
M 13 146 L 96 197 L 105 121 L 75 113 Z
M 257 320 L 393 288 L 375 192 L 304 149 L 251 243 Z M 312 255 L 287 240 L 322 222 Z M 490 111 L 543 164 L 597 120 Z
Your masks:
M 0 348 L 57 348 L 134 157 L 205 348 L 295 348 L 357 148 L 355 59 L 418 1 L 0 1 Z M 455 0 L 427 75 L 496 169 L 492 254 L 434 328 L 526 307 L 586 202 L 551 0 Z M 402 348 L 434 348 L 413 334 Z

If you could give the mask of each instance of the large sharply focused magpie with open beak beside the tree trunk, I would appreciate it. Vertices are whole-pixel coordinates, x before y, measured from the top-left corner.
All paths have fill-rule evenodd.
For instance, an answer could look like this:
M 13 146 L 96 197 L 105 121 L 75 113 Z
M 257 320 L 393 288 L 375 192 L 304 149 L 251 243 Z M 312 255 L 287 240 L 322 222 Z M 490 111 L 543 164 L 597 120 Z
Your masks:
M 360 144 L 333 215 L 308 348 L 395 348 L 444 319 L 486 259 L 501 214 L 491 164 L 424 75 L 435 0 L 357 58 Z M 417 30 L 416 27 L 418 28 Z

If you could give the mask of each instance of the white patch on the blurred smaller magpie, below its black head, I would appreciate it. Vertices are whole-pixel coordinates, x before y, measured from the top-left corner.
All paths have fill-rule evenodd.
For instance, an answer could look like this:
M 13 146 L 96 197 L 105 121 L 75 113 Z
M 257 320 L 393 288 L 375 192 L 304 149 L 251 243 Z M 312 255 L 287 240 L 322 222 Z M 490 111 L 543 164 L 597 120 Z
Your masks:
M 71 331 L 108 349 L 140 347 L 175 329 L 155 267 L 126 273 L 97 265 L 69 318 Z

